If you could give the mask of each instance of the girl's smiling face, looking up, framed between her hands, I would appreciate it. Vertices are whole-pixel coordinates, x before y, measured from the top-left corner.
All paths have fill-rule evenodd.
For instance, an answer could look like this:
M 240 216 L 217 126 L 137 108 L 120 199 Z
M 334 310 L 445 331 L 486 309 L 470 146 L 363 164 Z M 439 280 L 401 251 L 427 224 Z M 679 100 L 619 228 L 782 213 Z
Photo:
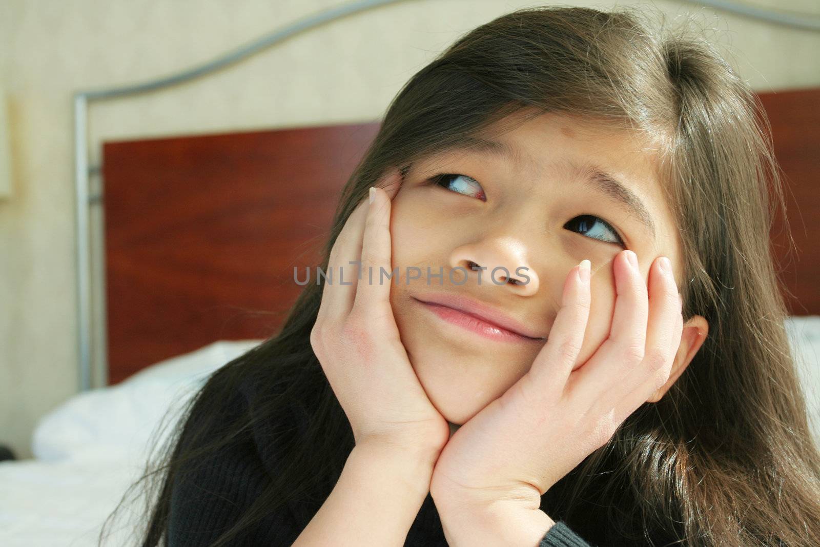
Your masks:
M 567 273 L 582 259 L 592 262 L 592 303 L 576 367 L 608 337 L 617 253 L 635 251 L 645 280 L 654 259 L 666 256 L 680 283 L 680 245 L 651 151 L 627 134 L 553 113 L 489 135 L 482 136 L 498 144 L 412 165 L 391 218 L 399 280 L 390 302 L 401 340 L 431 402 L 458 425 L 530 369 Z M 595 182 L 596 171 L 617 182 Z M 491 276 L 497 267 L 509 277 L 502 269 Z M 458 325 L 464 316 L 430 304 L 446 297 L 503 314 L 531 337 Z

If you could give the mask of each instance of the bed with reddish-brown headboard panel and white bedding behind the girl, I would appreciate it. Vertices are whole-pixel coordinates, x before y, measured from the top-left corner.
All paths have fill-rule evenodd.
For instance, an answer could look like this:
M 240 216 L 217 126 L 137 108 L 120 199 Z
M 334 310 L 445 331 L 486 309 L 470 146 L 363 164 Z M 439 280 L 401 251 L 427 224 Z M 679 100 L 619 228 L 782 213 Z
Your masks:
M 786 173 L 772 244 L 820 444 L 820 89 L 761 95 Z M 107 142 L 105 381 L 44 416 L 34 458 L 0 462 L 0 545 L 97 545 L 151 434 L 207 376 L 276 332 L 317 263 L 377 122 Z M 799 205 L 798 205 L 799 204 Z M 147 214 L 150 212 L 150 214 Z M 317 219 L 303 221 L 307 217 Z M 103 545 L 130 545 L 114 528 Z

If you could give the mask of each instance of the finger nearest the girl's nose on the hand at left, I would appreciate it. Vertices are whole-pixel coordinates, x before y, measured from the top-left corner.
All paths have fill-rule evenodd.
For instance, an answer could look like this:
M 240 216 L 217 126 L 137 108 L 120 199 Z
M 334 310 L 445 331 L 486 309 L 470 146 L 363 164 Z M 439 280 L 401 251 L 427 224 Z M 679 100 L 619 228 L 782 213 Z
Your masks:
M 381 185 L 394 191 L 399 184 L 399 171 L 390 171 L 380 180 Z M 362 236 L 362 280 L 356 290 L 353 308 L 363 313 L 383 315 L 389 310 L 392 246 L 390 239 L 390 211 L 392 203 L 385 189 L 374 187 L 372 203 L 367 207 L 364 235 Z M 374 317 L 378 318 L 378 317 Z

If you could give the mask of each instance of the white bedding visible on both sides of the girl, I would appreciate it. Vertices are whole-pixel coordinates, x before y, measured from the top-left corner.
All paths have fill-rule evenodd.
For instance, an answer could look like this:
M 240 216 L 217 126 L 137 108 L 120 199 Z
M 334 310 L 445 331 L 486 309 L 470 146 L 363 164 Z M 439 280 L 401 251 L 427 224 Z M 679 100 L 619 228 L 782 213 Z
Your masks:
M 786 331 L 820 445 L 820 316 L 789 317 Z M 209 344 L 120 385 L 75 395 L 43 417 L 34 432 L 35 458 L 0 463 L 0 545 L 98 545 L 103 521 L 144 470 L 149 435 L 166 408 L 185 403 L 216 368 L 261 341 Z M 126 508 L 102 545 L 134 545 L 129 515 Z

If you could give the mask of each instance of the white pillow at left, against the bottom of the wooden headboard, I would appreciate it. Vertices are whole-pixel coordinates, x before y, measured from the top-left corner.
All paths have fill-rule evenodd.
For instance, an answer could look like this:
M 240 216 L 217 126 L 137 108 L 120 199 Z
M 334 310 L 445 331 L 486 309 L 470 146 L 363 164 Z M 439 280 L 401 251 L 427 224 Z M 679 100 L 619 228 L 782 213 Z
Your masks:
M 119 384 L 76 394 L 40 419 L 34 429 L 34 458 L 128 459 L 148 455 L 148 441 L 162 422 L 162 442 L 177 413 L 216 369 L 263 340 L 220 340 L 157 362 Z M 171 409 L 171 415 L 164 417 Z

